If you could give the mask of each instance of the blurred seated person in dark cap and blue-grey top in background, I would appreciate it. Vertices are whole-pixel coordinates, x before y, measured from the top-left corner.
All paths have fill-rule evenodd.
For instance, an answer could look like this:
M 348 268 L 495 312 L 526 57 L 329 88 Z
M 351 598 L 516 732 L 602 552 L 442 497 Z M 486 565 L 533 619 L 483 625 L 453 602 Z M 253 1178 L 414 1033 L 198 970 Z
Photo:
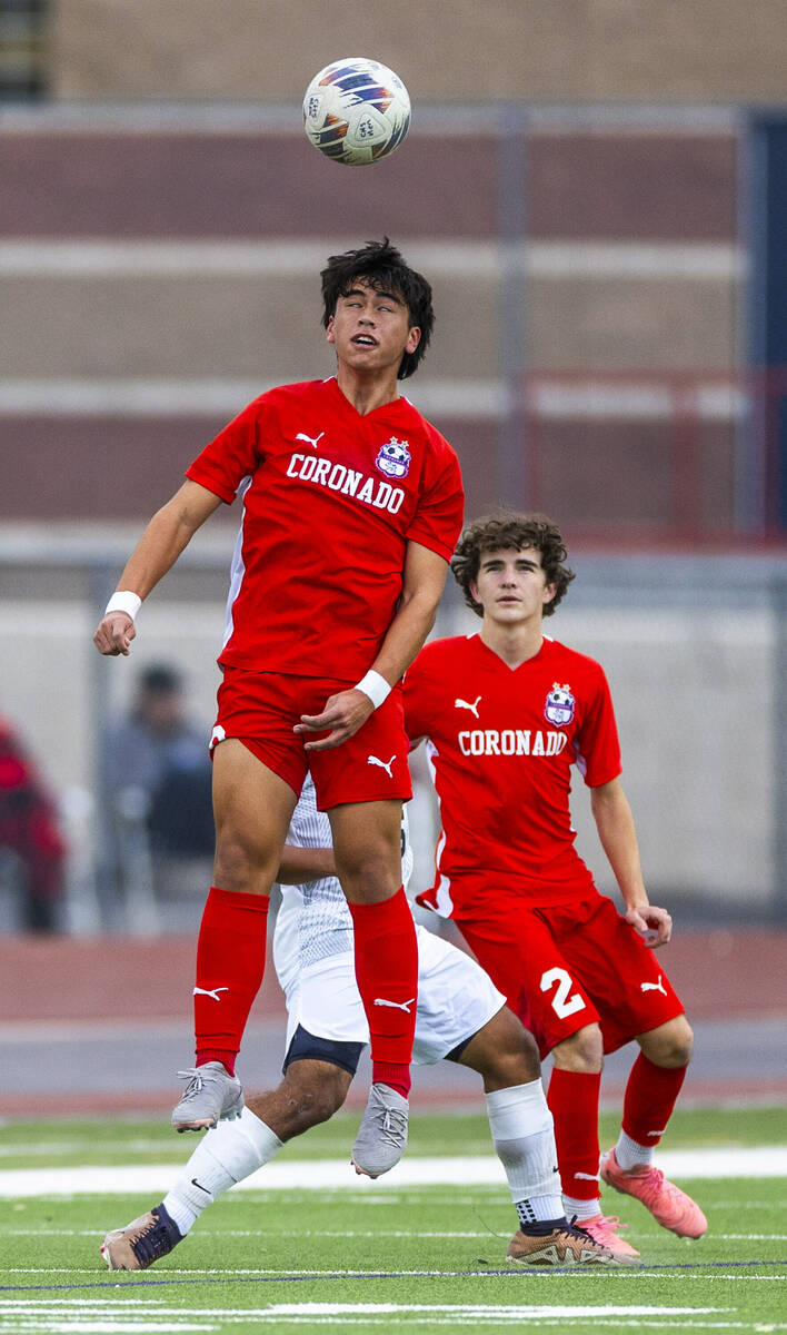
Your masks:
M 188 717 L 180 673 L 147 668 L 131 710 L 101 737 L 104 860 L 116 886 L 147 877 L 148 898 L 177 896 L 179 865 L 212 857 L 205 736 Z

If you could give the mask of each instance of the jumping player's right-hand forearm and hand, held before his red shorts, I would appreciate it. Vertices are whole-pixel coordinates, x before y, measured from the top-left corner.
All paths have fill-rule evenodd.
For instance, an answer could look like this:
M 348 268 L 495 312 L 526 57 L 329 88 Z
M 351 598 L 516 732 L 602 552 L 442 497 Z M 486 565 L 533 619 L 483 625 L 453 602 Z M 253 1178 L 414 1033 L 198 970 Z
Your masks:
M 443 557 L 420 542 L 407 545 L 402 598 L 369 669 L 388 686 L 403 677 L 435 625 L 447 573 L 448 562 Z M 341 690 L 325 701 L 321 714 L 303 714 L 295 732 L 320 733 L 329 728 L 328 737 L 319 742 L 305 742 L 307 750 L 328 750 L 352 737 L 373 709 L 375 701 L 365 694 L 365 689 Z

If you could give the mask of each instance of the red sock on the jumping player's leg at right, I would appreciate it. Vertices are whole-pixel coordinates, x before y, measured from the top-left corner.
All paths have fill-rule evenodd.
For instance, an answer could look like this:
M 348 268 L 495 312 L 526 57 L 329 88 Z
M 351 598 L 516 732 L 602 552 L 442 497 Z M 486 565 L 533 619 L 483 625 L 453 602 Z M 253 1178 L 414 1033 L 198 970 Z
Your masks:
M 407 1099 L 418 1000 L 418 943 L 404 888 L 381 904 L 351 904 L 355 977 L 372 1039 L 372 1080 Z

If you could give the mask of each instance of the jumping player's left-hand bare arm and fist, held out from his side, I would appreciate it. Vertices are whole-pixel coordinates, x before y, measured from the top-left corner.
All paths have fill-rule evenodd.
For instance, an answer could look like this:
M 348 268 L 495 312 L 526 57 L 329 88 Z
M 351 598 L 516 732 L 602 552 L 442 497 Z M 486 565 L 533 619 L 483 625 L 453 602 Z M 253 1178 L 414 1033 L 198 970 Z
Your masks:
M 120 575 L 117 590 L 144 601 L 219 505 L 220 497 L 199 482 L 184 482 L 148 523 Z M 135 635 L 133 617 L 128 611 L 108 611 L 96 627 L 93 643 L 100 654 L 116 657 L 128 654 Z

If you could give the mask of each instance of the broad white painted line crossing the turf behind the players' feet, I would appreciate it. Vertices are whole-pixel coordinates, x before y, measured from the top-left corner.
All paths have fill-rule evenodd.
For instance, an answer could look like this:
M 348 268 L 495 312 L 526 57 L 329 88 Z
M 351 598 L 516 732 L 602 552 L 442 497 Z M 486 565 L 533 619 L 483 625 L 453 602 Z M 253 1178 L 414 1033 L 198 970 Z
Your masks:
M 674 1149 L 659 1156 L 668 1177 L 787 1177 L 787 1145 Z M 84 1168 L 17 1168 L 0 1172 L 0 1196 L 147 1195 L 165 1191 L 179 1176 L 173 1164 Z M 404 1159 L 384 1177 L 359 1177 L 349 1163 L 291 1160 L 267 1164 L 237 1183 L 235 1191 L 379 1191 L 398 1187 L 506 1184 L 502 1164 L 491 1155 Z

